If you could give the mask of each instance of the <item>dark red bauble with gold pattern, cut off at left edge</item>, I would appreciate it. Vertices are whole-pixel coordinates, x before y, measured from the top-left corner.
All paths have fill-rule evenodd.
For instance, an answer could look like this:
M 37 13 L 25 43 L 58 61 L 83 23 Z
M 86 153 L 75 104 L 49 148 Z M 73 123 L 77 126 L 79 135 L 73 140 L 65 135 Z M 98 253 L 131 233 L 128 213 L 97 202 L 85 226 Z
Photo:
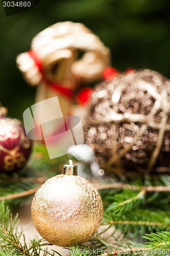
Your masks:
M 22 123 L 7 117 L 7 109 L 0 108 L 0 173 L 16 172 L 25 166 L 31 153 L 31 140 Z

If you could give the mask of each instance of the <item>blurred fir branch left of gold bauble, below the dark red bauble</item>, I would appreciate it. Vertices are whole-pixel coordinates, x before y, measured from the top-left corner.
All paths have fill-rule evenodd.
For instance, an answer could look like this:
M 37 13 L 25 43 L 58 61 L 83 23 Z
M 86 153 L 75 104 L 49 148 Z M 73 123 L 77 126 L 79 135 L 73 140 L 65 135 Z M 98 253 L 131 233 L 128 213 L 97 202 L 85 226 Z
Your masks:
M 32 199 L 39 185 L 47 179 L 61 174 L 63 164 L 71 158 L 66 155 L 51 160 L 48 157 L 46 146 L 34 146 L 28 167 L 10 175 L 0 174 L 0 201 L 8 200 L 10 205 L 23 206 L 25 202 L 29 201 L 28 196 Z

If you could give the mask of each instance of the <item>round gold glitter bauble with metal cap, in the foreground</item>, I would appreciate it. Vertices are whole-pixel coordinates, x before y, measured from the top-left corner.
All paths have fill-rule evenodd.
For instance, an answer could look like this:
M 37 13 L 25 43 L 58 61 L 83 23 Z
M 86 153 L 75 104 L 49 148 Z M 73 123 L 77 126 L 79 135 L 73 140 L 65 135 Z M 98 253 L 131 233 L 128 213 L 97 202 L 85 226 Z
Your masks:
M 64 165 L 63 174 L 47 180 L 32 202 L 32 218 L 40 235 L 51 244 L 71 246 L 89 240 L 103 215 L 98 191 L 77 168 Z

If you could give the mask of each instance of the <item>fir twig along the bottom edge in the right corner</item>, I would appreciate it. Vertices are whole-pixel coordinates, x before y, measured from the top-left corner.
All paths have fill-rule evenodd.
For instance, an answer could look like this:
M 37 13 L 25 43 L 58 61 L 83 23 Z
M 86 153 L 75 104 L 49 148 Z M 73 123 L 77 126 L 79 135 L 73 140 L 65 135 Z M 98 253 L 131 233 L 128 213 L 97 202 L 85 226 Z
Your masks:
M 110 245 L 104 239 L 100 238 L 100 234 L 91 242 L 96 248 L 98 255 L 116 256 L 116 255 L 169 255 L 170 254 L 170 231 L 146 234 L 143 238 L 150 242 L 146 245 L 135 243 L 121 236 L 114 237 L 113 245 Z M 107 238 L 108 239 L 108 238 Z M 102 249 L 101 249 L 102 248 Z M 101 253 L 100 253 L 101 252 Z

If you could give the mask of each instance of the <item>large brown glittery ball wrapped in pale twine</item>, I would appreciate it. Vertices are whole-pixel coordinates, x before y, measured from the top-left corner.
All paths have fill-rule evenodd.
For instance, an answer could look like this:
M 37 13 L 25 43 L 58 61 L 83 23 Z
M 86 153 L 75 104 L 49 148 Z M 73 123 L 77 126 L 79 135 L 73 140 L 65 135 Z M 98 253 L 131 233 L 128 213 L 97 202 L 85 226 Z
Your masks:
M 170 81 L 152 70 L 95 88 L 85 138 L 102 168 L 121 176 L 170 172 Z

